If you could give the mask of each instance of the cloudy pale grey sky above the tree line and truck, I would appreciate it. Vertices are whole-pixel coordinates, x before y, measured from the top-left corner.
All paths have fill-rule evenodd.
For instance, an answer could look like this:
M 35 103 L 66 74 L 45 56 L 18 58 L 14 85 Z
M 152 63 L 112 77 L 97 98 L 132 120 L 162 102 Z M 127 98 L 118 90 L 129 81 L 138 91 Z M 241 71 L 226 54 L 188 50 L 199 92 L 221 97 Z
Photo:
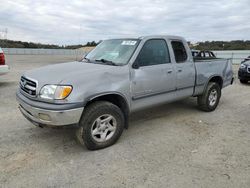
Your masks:
M 154 34 L 250 40 L 250 0 L 0 0 L 5 28 L 10 40 L 59 45 Z

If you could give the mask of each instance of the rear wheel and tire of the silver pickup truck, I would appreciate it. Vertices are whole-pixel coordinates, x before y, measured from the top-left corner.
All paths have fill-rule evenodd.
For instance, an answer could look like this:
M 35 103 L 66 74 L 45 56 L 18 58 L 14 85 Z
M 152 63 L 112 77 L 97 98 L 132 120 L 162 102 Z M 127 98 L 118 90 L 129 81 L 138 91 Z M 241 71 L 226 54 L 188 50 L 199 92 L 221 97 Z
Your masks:
M 209 82 L 205 92 L 198 96 L 198 106 L 202 111 L 211 112 L 216 109 L 221 97 L 221 88 L 215 82 Z

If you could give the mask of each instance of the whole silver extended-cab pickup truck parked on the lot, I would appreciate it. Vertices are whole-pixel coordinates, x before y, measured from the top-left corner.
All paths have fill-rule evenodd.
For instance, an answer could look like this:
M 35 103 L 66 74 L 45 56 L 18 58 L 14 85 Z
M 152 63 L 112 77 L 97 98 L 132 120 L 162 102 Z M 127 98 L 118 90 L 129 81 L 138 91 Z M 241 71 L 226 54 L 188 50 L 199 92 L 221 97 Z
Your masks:
M 82 61 L 25 72 L 17 100 L 35 125 L 77 125 L 79 142 L 95 150 L 114 144 L 134 111 L 191 96 L 213 111 L 232 82 L 229 60 L 196 61 L 182 37 L 111 39 Z

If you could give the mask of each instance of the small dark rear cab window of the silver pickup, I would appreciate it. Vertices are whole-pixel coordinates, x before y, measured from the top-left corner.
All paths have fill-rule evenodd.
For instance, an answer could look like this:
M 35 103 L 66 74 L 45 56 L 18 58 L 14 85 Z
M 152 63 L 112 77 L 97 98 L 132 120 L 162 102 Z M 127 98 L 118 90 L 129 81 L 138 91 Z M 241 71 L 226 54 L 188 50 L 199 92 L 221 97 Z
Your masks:
M 172 41 L 171 42 L 173 51 L 174 51 L 174 56 L 175 56 L 175 61 L 176 63 L 184 63 L 188 56 L 187 56 L 187 51 L 184 47 L 184 44 L 182 41 Z

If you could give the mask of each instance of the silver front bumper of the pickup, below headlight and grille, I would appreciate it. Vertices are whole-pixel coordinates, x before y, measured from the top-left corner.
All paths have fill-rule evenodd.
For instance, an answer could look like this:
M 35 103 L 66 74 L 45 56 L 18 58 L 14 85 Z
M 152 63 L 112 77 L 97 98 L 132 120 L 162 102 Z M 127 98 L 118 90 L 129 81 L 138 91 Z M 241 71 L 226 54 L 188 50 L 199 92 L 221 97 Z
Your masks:
M 25 101 L 30 99 L 26 98 L 23 100 L 24 96 L 21 95 L 22 94 L 17 93 L 17 101 L 19 102 L 21 113 L 26 119 L 38 126 L 53 127 L 78 124 L 84 109 L 84 107 L 77 107 L 73 109 L 51 110 L 34 107 Z

